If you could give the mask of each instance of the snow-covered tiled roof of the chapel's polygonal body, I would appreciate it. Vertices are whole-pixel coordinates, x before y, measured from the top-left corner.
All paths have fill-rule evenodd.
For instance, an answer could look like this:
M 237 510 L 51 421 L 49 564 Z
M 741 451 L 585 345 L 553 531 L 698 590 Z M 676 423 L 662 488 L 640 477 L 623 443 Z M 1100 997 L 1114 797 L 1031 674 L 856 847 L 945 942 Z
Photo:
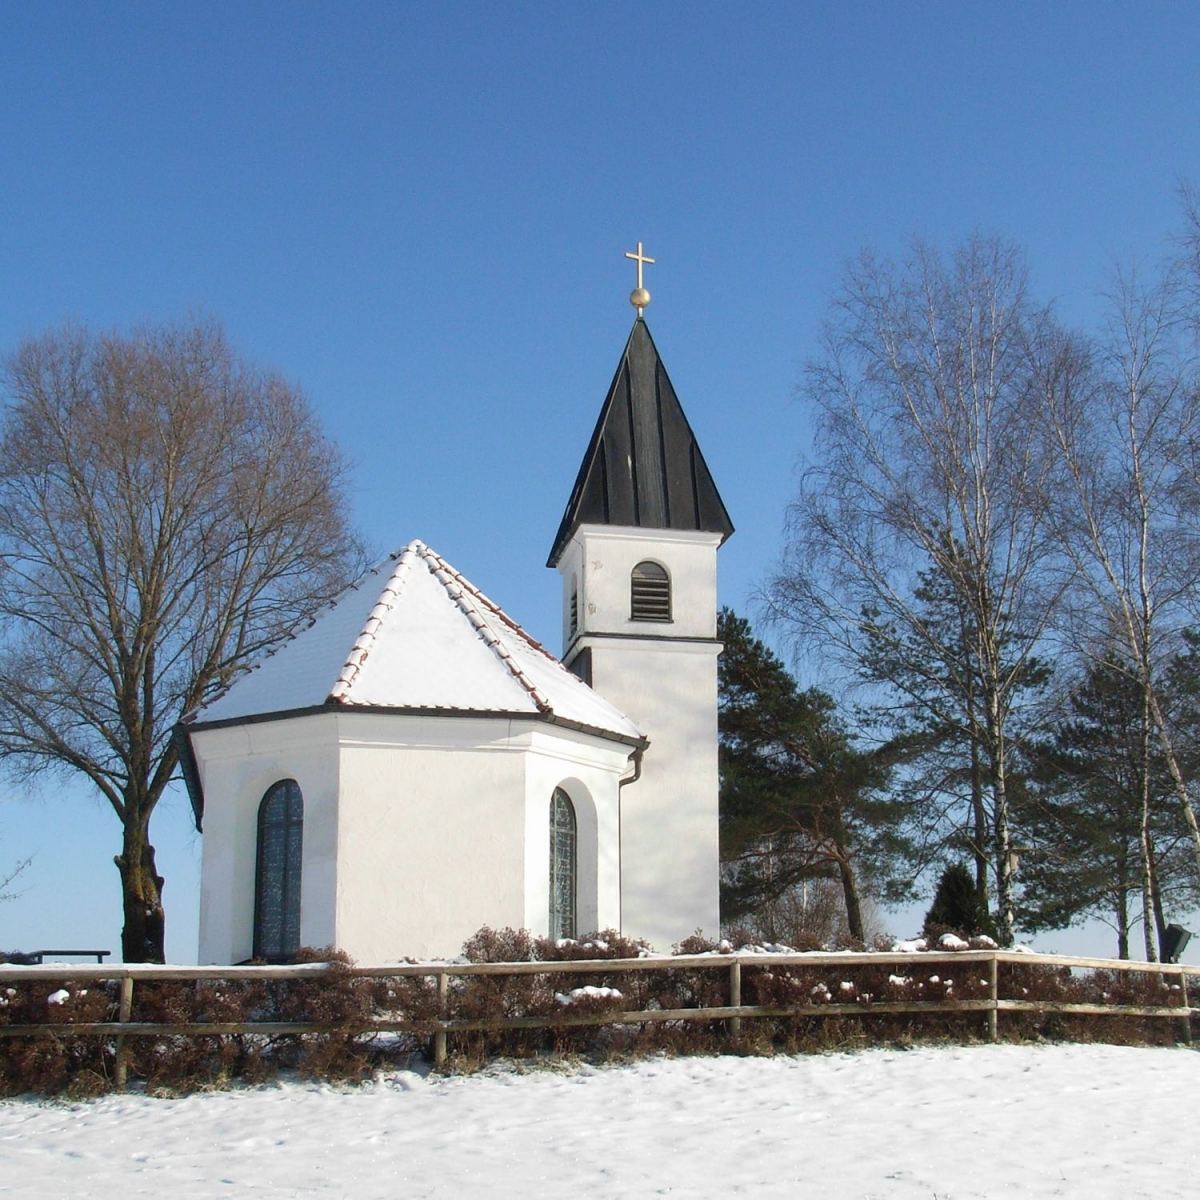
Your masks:
M 631 745 L 646 740 L 421 541 L 374 566 L 184 722 L 318 708 L 529 715 Z

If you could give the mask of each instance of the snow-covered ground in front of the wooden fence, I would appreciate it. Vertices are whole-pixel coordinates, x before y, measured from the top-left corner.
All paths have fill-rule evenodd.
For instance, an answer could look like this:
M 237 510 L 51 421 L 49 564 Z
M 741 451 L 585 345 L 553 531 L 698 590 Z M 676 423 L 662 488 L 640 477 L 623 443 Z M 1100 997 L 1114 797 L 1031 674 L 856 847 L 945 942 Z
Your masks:
M 962 1046 L 0 1103 L 2 1196 L 1200 1194 L 1200 1056 Z

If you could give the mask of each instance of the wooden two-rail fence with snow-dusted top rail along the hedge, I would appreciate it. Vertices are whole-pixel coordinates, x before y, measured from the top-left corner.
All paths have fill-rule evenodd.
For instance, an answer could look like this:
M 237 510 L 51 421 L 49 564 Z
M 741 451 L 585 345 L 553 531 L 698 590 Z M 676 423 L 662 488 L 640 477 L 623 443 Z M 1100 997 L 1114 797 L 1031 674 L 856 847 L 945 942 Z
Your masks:
M 889 983 L 901 985 L 916 979 L 914 971 L 940 964 L 967 966 L 978 965 L 986 972 L 986 978 L 978 980 L 984 988 L 984 995 L 970 1000 L 943 996 L 937 1000 L 877 1000 L 874 995 L 854 995 L 850 1001 L 828 1000 L 832 995 L 824 985 L 812 989 L 816 1000 L 803 1003 L 786 1004 L 744 1004 L 743 973 L 763 972 L 767 968 L 839 968 L 839 973 L 850 973 L 863 967 L 896 967 L 906 976 L 890 976 Z M 1171 1003 L 1128 1004 L 1104 1001 L 1052 1001 L 1045 998 L 1022 1000 L 1000 994 L 1000 966 L 1010 964 L 1018 968 L 1054 967 L 1070 974 L 1073 971 L 1136 972 L 1157 976 L 1159 988 Z M 604 1012 L 570 1013 L 564 1004 L 562 1010 L 552 1015 L 532 1016 L 490 1016 L 455 1018 L 451 1015 L 450 982 L 469 977 L 494 976 L 517 978 L 521 976 L 619 976 L 630 972 L 668 972 L 668 971 L 725 972 L 727 985 L 725 994 L 728 1003 L 697 1003 L 685 1008 L 640 1008 L 635 1010 L 617 1010 L 606 1008 Z M 360 979 L 402 979 L 419 977 L 432 979 L 437 997 L 437 1016 L 427 1019 L 350 1019 L 350 1020 L 252 1020 L 252 1021 L 198 1021 L 164 1022 L 133 1020 L 133 997 L 137 983 L 204 983 L 254 980 L 307 980 L 317 982 L 331 977 L 335 972 L 341 978 Z M 110 965 L 110 966 L 5 966 L 0 965 L 0 990 L 5 984 L 19 983 L 83 983 L 86 980 L 114 982 L 119 984 L 116 998 L 116 1019 L 103 1021 L 71 1021 L 50 1024 L 0 1024 L 0 1038 L 60 1038 L 60 1037 L 109 1037 L 115 1044 L 115 1081 L 118 1087 L 126 1082 L 126 1039 L 136 1037 L 204 1037 L 204 1036 L 286 1036 L 312 1033 L 410 1033 L 432 1036 L 434 1061 L 438 1067 L 446 1061 L 446 1038 L 452 1033 L 468 1032 L 504 1032 L 516 1030 L 557 1030 L 574 1026 L 599 1025 L 644 1025 L 649 1022 L 688 1022 L 688 1021 L 725 1021 L 734 1037 L 742 1032 L 746 1020 L 760 1019 L 823 1019 L 834 1016 L 868 1018 L 871 1015 L 892 1014 L 929 1014 L 960 1015 L 978 1013 L 985 1018 L 988 1037 L 998 1037 L 998 1018 L 1001 1013 L 1070 1014 L 1078 1016 L 1127 1016 L 1127 1018 L 1165 1018 L 1180 1022 L 1182 1037 L 1190 1044 L 1190 1020 L 1200 1009 L 1193 1008 L 1188 995 L 1188 976 L 1200 974 L 1200 966 L 1184 964 L 1141 962 L 1120 959 L 1085 959 L 1069 955 L 1030 954 L 1013 950 L 934 950 L 919 953 L 804 953 L 804 954 L 688 954 L 674 956 L 647 956 L 638 959 L 581 959 L 538 962 L 406 962 L 389 966 L 329 965 L 308 962 L 296 966 L 211 966 L 179 967 L 149 964 Z M 929 977 L 935 983 L 938 977 Z M 1014 978 L 1016 976 L 1014 974 Z M 1175 979 L 1172 985 L 1169 980 Z M 853 994 L 852 984 L 842 983 L 842 989 Z M 823 992 L 822 992 L 823 989 Z M 587 991 L 587 989 L 584 989 Z M 65 994 L 64 994 L 65 995 Z M 602 998 L 619 1000 L 618 991 L 612 989 L 593 989 L 589 995 Z M 1105 994 L 1106 995 L 1106 994 Z M 50 1002 L 54 1002 L 52 995 Z M 564 997 L 559 997 L 560 1001 Z M 0 1003 L 4 1003 L 0 996 Z

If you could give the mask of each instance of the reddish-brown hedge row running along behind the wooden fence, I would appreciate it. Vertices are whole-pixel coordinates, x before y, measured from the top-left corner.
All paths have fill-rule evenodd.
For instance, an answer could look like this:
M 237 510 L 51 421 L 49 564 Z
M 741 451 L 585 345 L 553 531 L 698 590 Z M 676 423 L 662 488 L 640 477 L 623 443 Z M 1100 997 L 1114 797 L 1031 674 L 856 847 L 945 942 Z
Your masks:
M 702 937 L 676 953 L 730 949 Z M 772 949 L 782 949 L 772 947 Z M 629 959 L 647 947 L 605 931 L 581 941 L 535 938 L 523 930 L 482 929 L 463 947 L 473 962 L 564 962 Z M 222 1021 L 304 1021 L 326 1030 L 316 1034 L 138 1036 L 127 1039 L 127 1072 L 154 1093 L 226 1086 L 234 1080 L 263 1082 L 280 1070 L 326 1080 L 360 1080 L 379 1069 L 410 1067 L 431 1057 L 431 1037 L 361 1033 L 374 1020 L 425 1021 L 438 1015 L 432 977 L 374 979 L 350 973 L 341 953 L 308 950 L 300 961 L 326 961 L 330 971 L 287 980 L 138 982 L 132 1020 L 158 1024 Z M 1000 995 L 1046 1003 L 1175 1006 L 1177 984 L 1147 972 L 1072 971 L 1038 962 L 1001 964 Z M 642 1009 L 690 1009 L 728 1004 L 728 972 L 688 966 L 574 974 L 452 976 L 446 1015 L 457 1020 L 605 1014 Z M 460 1032 L 449 1037 L 451 1069 L 467 1070 L 496 1057 L 533 1058 L 580 1055 L 593 1060 L 653 1052 L 794 1052 L 814 1049 L 907 1044 L 929 1039 L 976 1039 L 985 1032 L 982 1013 L 883 1014 L 887 1001 L 985 1000 L 986 967 L 978 962 L 923 962 L 906 956 L 902 966 L 880 966 L 847 955 L 828 964 L 768 965 L 746 955 L 742 1003 L 853 1003 L 851 1015 L 752 1019 L 736 1037 L 727 1021 L 659 1021 L 643 1025 L 557 1026 L 545 1030 Z M 119 984 L 90 980 L 47 985 L 41 980 L 0 985 L 0 1026 L 61 1025 L 62 1036 L 0 1038 L 0 1094 L 24 1092 L 100 1094 L 113 1086 L 113 1037 L 68 1033 L 68 1026 L 116 1019 Z M 1001 1036 L 1130 1043 L 1170 1042 L 1181 1020 L 1124 1015 L 1002 1014 Z

